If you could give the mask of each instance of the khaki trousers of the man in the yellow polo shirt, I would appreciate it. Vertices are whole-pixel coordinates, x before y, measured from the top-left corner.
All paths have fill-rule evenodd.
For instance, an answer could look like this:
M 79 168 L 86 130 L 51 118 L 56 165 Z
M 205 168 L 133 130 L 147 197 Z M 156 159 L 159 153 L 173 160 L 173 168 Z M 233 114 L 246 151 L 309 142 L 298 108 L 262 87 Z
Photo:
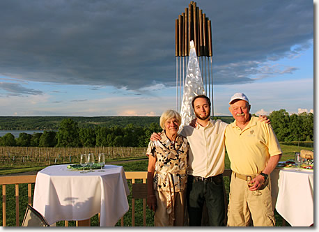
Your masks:
M 247 181 L 231 175 L 231 190 L 229 193 L 227 226 L 249 226 L 251 219 L 254 226 L 274 226 L 274 211 L 270 180 L 261 192 L 255 196 L 250 191 Z

